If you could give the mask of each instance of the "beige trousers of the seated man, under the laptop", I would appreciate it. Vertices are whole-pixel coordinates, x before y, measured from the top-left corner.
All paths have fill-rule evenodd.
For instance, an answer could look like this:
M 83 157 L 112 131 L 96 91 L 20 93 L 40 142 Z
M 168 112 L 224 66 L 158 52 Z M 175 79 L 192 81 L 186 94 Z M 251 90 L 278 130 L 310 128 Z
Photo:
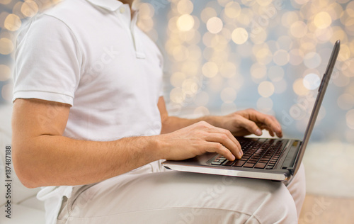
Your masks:
M 304 168 L 280 182 L 166 171 L 153 162 L 64 198 L 62 223 L 297 223 Z

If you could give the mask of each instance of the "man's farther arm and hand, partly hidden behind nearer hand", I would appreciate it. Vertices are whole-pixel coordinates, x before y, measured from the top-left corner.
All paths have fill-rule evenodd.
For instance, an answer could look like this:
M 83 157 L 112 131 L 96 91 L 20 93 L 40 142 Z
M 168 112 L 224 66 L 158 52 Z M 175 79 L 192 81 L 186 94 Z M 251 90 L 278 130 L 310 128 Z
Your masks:
M 159 111 L 161 114 L 162 130 L 161 133 L 170 133 L 180 128 L 184 128 L 193 123 L 206 121 L 215 127 L 229 130 L 233 135 L 262 135 L 262 129 L 268 130 L 270 135 L 274 133 L 282 137 L 282 129 L 278 121 L 269 115 L 265 115 L 253 109 L 237 111 L 227 116 L 205 116 L 196 119 L 185 119 L 169 116 L 166 110 L 164 97 L 159 98 Z

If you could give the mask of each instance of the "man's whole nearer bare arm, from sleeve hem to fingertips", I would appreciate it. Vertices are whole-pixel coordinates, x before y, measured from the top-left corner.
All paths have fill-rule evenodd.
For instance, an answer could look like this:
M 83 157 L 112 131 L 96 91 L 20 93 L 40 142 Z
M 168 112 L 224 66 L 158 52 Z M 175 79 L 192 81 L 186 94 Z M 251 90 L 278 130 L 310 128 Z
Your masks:
M 90 184 L 157 159 L 187 159 L 217 152 L 241 157 L 239 142 L 222 128 L 200 122 L 173 133 L 108 142 L 62 136 L 70 106 L 38 99 L 13 104 L 13 165 L 30 188 Z

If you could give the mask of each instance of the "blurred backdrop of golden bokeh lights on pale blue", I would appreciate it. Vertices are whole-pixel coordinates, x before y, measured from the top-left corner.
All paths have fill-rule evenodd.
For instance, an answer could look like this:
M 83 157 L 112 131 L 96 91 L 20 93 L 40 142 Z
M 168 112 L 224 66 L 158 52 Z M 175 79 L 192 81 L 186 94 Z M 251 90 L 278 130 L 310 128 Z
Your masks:
M 16 31 L 57 0 L 0 0 L 0 103 L 11 103 Z M 165 57 L 172 115 L 256 108 L 302 138 L 333 43 L 341 52 L 312 140 L 354 142 L 354 2 L 140 0 Z M 78 9 L 79 10 L 79 9 Z

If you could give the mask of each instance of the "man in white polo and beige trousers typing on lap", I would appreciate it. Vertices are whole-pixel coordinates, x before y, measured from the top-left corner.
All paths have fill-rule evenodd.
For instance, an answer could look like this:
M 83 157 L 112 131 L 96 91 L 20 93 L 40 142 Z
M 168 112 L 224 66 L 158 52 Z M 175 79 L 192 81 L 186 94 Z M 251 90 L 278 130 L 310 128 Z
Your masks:
M 161 159 L 234 160 L 242 151 L 233 135 L 282 130 L 251 109 L 168 116 L 161 54 L 131 6 L 64 0 L 18 35 L 13 164 L 25 186 L 47 186 L 38 194 L 47 223 L 297 223 L 303 171 L 287 187 L 164 172 Z

